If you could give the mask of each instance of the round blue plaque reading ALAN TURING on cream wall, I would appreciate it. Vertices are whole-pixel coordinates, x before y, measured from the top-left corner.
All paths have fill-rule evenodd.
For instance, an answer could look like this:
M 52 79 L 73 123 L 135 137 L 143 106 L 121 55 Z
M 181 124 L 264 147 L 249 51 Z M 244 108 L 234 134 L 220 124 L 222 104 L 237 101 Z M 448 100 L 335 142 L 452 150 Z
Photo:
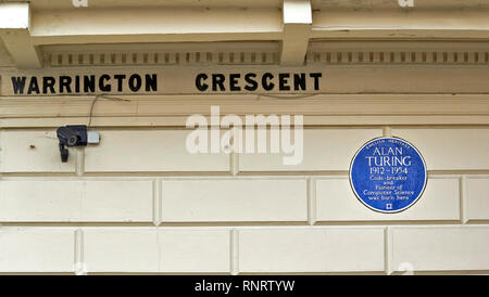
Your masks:
M 350 184 L 368 208 L 393 214 L 419 199 L 427 182 L 426 164 L 411 143 L 377 138 L 356 152 L 350 165 Z

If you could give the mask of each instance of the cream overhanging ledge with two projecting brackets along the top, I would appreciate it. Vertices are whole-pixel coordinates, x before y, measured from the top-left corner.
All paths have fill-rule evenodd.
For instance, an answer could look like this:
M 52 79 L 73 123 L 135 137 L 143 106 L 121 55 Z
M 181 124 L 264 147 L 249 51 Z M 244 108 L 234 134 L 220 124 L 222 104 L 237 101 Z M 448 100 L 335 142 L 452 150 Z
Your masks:
M 302 65 L 311 41 L 487 41 L 489 0 L 2 1 L 0 37 L 20 68 L 43 66 L 45 47 L 273 42 L 281 65 Z

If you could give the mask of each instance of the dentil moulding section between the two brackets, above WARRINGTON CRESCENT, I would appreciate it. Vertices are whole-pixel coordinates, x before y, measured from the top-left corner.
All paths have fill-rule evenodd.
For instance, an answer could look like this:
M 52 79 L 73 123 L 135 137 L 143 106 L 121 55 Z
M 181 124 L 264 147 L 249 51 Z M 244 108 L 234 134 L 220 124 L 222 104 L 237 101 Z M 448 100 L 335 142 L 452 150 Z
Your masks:
M 274 65 L 278 42 L 93 44 L 43 47 L 46 66 Z

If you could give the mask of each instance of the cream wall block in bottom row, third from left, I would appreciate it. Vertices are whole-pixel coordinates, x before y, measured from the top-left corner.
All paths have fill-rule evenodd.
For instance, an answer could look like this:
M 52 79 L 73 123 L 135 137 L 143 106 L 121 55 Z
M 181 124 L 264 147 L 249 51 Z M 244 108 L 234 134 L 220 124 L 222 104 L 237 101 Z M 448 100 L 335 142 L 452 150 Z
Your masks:
M 383 228 L 239 232 L 241 272 L 375 272 L 384 268 Z

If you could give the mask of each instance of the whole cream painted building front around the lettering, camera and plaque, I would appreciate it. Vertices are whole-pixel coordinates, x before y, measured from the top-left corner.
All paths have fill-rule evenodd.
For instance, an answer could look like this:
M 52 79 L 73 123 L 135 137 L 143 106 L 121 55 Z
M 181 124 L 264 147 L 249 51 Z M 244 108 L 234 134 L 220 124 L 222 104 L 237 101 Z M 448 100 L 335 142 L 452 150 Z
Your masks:
M 489 1 L 88 3 L 0 3 L 0 274 L 489 273 Z M 153 73 L 154 92 L 12 88 Z M 196 85 L 247 73 L 322 77 L 317 90 Z M 191 154 L 188 116 L 210 122 L 212 106 L 303 115 L 303 162 Z M 100 143 L 61 163 L 65 125 Z M 356 150 L 383 135 L 427 165 L 399 214 L 366 208 L 349 182 Z

